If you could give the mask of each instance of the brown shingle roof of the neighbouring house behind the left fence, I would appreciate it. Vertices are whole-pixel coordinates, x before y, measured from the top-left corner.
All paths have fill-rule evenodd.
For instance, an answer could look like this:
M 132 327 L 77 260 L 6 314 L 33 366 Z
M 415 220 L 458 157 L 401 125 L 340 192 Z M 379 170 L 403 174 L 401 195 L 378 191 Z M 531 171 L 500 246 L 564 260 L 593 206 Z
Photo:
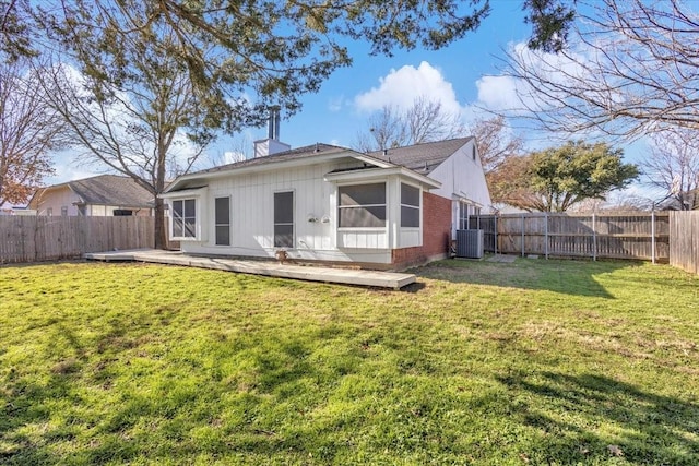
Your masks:
M 152 207 L 153 194 L 132 178 L 117 175 L 100 175 L 93 178 L 69 181 L 67 184 L 86 204 Z

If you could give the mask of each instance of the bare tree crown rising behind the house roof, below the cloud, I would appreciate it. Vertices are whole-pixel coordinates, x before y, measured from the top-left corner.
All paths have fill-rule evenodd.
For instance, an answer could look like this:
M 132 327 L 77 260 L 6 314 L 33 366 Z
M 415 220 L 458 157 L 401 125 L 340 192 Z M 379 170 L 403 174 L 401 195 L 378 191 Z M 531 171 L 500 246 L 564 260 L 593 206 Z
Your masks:
M 464 132 L 459 115 L 445 109 L 441 103 L 417 97 L 411 107 L 401 110 L 386 105 L 368 121 L 368 131 L 358 132 L 353 147 L 360 152 L 441 141 Z

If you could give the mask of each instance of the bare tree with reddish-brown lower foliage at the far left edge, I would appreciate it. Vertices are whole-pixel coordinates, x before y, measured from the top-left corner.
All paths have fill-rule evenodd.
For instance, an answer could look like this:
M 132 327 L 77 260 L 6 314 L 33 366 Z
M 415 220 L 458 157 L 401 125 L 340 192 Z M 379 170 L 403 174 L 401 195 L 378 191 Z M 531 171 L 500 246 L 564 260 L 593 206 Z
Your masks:
M 63 121 L 23 60 L 0 63 L 0 205 L 23 203 L 54 172 Z

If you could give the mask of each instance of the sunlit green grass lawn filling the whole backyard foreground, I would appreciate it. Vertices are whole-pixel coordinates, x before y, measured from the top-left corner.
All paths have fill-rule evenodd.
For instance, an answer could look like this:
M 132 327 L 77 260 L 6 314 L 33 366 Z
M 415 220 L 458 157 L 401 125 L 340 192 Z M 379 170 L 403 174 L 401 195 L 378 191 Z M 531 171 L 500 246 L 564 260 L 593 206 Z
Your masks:
M 0 267 L 0 464 L 699 464 L 699 277 Z

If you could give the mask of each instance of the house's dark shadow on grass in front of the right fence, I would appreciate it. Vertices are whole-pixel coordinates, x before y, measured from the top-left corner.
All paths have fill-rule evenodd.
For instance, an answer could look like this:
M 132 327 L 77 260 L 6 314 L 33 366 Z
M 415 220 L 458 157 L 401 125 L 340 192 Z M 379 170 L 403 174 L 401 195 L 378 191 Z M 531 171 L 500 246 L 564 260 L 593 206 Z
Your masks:
M 520 259 L 512 263 L 451 259 L 413 272 L 451 283 L 548 290 L 566 295 L 613 298 L 595 275 L 612 273 L 636 262 Z

